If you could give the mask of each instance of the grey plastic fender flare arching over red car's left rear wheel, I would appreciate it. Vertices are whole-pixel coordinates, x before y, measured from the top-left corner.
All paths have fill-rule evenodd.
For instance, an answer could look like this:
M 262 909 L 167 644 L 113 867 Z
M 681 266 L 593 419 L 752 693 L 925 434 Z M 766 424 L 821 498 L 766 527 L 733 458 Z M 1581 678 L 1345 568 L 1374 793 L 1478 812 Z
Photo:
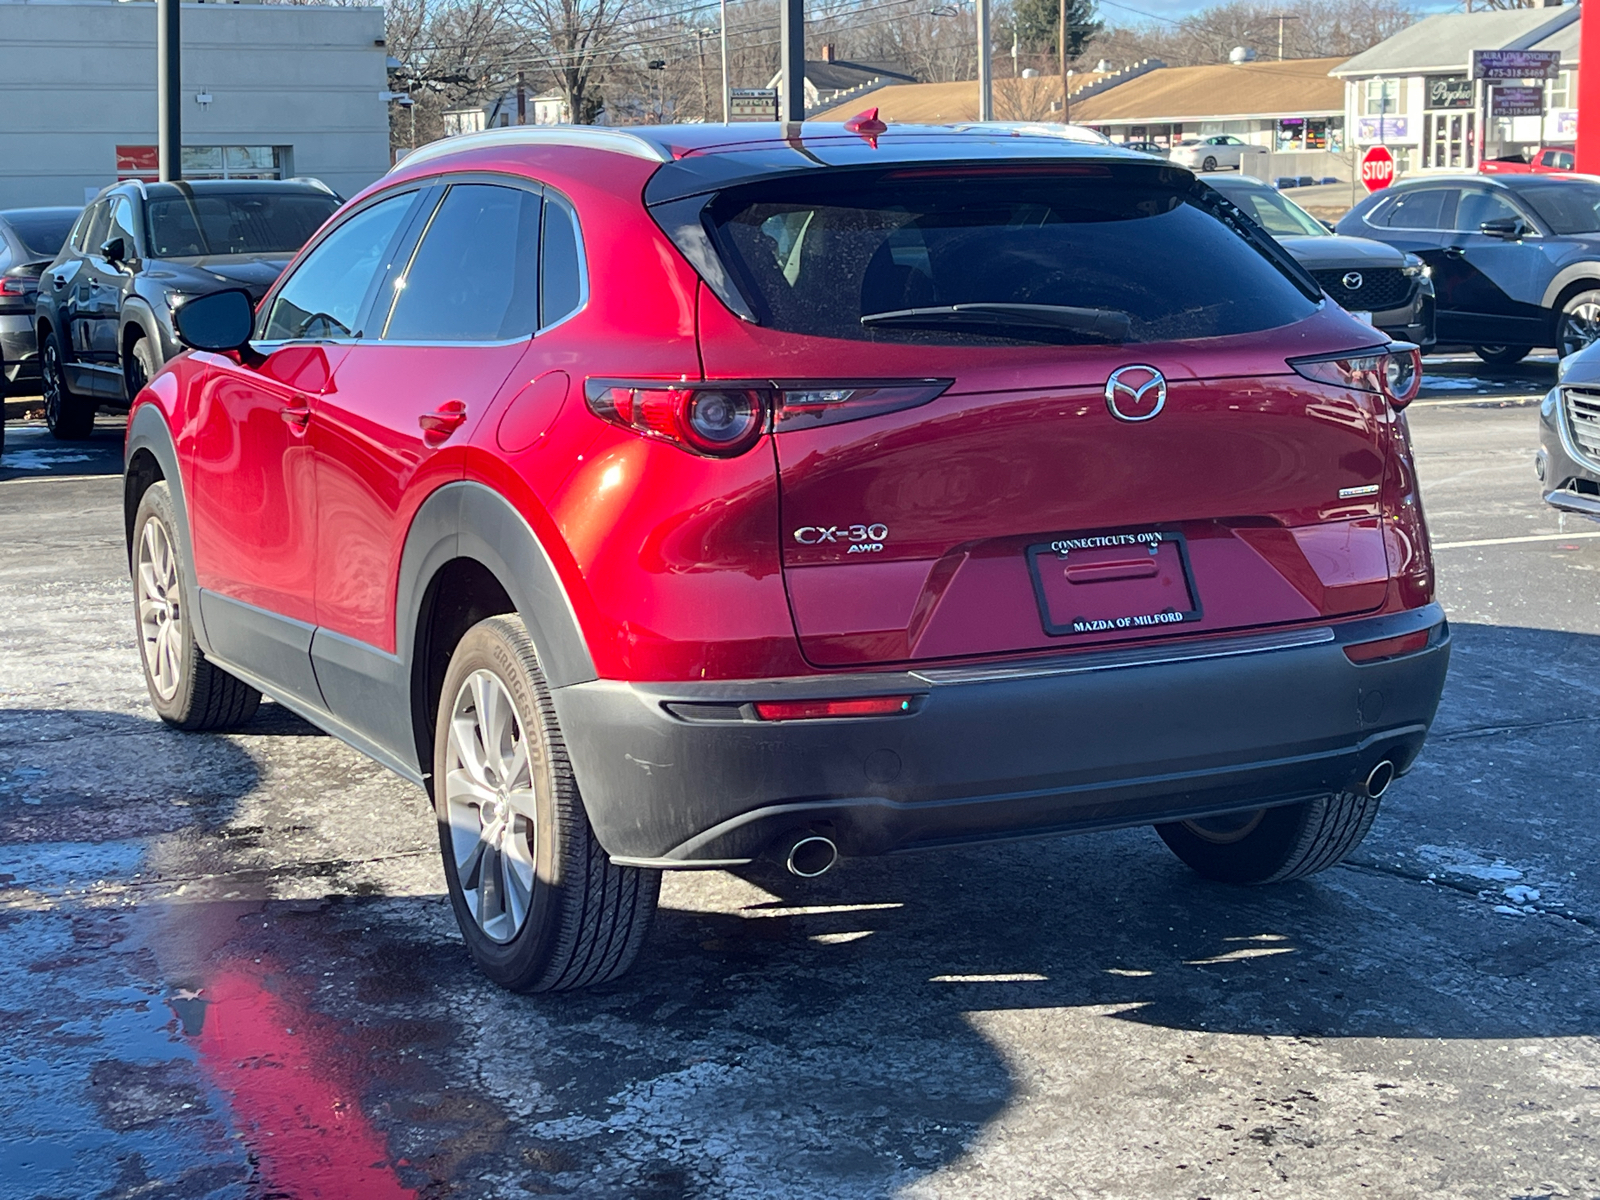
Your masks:
M 400 555 L 395 650 L 408 675 L 422 595 L 453 558 L 482 563 L 506 589 L 539 654 L 550 688 L 597 678 L 578 613 L 533 526 L 482 483 L 446 483 L 418 509 Z

